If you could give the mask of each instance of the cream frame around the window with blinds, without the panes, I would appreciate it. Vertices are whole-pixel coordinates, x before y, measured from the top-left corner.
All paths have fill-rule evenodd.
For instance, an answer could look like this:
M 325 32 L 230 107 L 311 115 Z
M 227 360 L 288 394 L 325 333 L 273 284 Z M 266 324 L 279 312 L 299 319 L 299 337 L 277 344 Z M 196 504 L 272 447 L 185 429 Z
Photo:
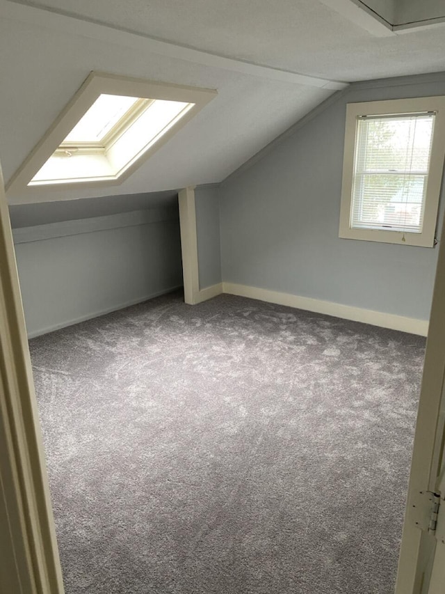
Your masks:
M 419 114 L 425 111 L 435 112 L 435 127 L 432 137 L 422 232 L 410 233 L 407 231 L 403 232 L 382 229 L 351 228 L 350 219 L 353 206 L 352 198 L 357 118 L 359 116 Z M 343 180 L 341 185 L 339 237 L 350 240 L 395 243 L 401 245 L 415 245 L 420 247 L 434 247 L 444 159 L 444 96 L 348 103 L 346 106 L 346 130 L 343 154 Z

